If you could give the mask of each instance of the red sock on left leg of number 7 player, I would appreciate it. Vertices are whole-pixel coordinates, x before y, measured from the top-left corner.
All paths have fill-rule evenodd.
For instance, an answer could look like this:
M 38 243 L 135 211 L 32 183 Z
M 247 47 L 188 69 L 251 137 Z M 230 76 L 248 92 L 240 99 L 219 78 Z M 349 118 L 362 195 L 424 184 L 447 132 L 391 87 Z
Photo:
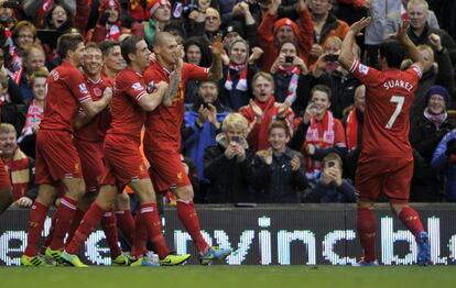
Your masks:
M 371 209 L 358 208 L 358 234 L 365 251 L 365 261 L 376 259 L 376 215 Z

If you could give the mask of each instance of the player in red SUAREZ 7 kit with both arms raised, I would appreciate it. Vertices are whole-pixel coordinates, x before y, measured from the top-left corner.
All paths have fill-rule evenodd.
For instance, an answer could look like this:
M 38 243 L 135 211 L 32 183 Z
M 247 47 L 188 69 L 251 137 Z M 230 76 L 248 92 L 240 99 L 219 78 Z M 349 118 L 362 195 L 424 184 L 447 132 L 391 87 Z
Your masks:
M 424 59 L 405 32 L 409 25 L 405 22 L 399 29 L 397 40 L 387 40 L 380 45 L 381 71 L 362 65 L 355 59 L 352 45 L 355 36 L 370 21 L 370 18 L 363 18 L 350 26 L 339 55 L 340 64 L 366 85 L 362 148 L 355 181 L 359 192 L 358 233 L 365 253 L 358 265 L 378 265 L 373 202 L 381 193 L 388 197 L 392 211 L 415 236 L 417 264 L 426 265 L 430 261 L 428 235 L 419 213 L 409 206 L 413 175 L 409 112 Z M 401 71 L 399 66 L 405 55 L 404 47 L 415 63 Z

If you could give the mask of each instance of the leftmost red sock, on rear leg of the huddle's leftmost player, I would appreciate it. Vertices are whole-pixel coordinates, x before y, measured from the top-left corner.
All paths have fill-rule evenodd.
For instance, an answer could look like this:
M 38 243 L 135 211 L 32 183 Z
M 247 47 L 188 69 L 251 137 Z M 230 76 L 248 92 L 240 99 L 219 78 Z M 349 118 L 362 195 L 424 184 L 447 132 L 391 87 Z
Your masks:
M 47 207 L 40 202 L 34 202 L 29 214 L 29 234 L 26 236 L 26 256 L 35 256 L 39 251 L 41 232 L 43 231 L 44 221 L 46 220 Z

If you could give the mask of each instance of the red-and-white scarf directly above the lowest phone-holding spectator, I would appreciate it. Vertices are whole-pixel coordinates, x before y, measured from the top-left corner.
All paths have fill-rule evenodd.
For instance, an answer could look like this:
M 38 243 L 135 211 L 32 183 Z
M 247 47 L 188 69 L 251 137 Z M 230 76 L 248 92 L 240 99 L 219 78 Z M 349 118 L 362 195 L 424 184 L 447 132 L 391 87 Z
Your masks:
M 313 144 L 316 148 L 328 148 L 334 146 L 335 132 L 334 132 L 334 117 L 333 113 L 326 111 L 322 120 L 323 124 L 323 135 L 318 133 L 318 123 L 315 117 L 311 119 L 311 125 L 307 129 L 305 135 L 304 147 L 307 144 Z M 311 157 L 305 157 L 307 174 L 313 174 L 319 171 L 322 168 L 322 163 L 318 160 L 313 160 Z M 311 177 L 313 178 L 313 177 Z

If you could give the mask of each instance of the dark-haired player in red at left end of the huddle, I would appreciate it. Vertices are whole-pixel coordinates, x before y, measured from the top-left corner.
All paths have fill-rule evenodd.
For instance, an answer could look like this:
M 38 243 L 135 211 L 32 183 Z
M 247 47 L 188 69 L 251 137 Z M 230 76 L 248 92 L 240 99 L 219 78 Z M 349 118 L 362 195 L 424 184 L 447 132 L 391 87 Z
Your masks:
M 85 193 L 80 160 L 73 144 L 73 122 L 79 106 L 86 114 L 94 117 L 111 100 L 111 89 L 106 89 L 98 101 L 93 101 L 77 69 L 84 56 L 84 38 L 79 34 L 64 34 L 58 38 L 57 51 L 62 65 L 47 77 L 44 119 L 36 136 L 36 174 L 40 185 L 29 219 L 28 246 L 21 257 L 23 266 L 46 266 L 37 254 L 37 244 L 46 219 L 47 209 L 56 197 L 56 185 L 63 184 L 66 193 L 55 213 L 56 225 L 46 255 L 59 259 L 64 239 L 72 225 L 76 203 Z

